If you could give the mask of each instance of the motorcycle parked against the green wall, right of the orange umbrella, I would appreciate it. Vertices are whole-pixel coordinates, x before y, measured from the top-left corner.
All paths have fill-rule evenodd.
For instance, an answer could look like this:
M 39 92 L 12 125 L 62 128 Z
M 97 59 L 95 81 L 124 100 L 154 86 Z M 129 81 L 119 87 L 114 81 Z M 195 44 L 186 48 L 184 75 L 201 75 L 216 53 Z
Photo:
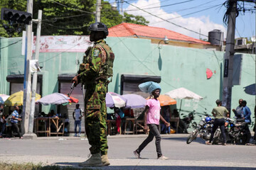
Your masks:
M 183 115 L 183 113 L 181 113 Z M 178 127 L 178 132 L 181 133 L 188 133 L 187 129 L 188 128 L 193 128 L 195 129 L 197 127 L 196 122 L 192 122 L 195 118 L 195 111 L 189 113 L 188 115 L 183 115 L 183 118 L 180 119 L 179 121 L 179 127 Z

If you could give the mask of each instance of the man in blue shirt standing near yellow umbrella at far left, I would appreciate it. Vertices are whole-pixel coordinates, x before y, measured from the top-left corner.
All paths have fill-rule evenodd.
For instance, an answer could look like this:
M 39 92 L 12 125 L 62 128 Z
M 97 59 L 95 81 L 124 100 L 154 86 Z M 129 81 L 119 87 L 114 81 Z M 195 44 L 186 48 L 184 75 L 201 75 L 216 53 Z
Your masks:
M 10 137 L 14 137 L 14 130 L 18 133 L 18 137 L 22 139 L 21 132 L 18 128 L 18 121 L 21 121 L 18 115 L 18 106 L 14 106 L 14 111 L 11 113 L 11 130 L 10 130 Z

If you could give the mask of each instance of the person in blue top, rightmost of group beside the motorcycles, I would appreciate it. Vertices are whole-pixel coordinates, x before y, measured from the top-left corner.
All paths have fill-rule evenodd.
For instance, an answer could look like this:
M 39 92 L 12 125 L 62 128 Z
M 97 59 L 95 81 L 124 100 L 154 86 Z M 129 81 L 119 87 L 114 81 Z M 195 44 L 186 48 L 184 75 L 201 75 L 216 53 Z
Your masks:
M 252 114 L 250 111 L 250 108 L 248 108 L 246 106 L 247 102 L 246 101 L 242 101 L 242 114 L 243 114 L 243 119 L 245 119 L 245 132 L 246 132 L 246 142 L 245 144 L 249 144 L 250 143 L 250 138 L 252 137 L 251 133 L 250 133 L 250 129 L 249 129 L 249 125 L 252 122 L 250 115 Z

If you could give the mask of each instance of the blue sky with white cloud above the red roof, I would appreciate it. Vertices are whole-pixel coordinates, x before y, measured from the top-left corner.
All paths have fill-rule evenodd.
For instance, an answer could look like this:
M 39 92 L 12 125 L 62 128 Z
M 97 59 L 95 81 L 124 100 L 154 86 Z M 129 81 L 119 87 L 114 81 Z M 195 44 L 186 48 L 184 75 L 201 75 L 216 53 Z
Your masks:
M 114 0 L 108 0 L 113 3 Z M 124 0 L 125 1 L 125 0 Z M 178 33 L 199 38 L 199 34 L 208 35 L 208 32 L 213 29 L 219 29 L 224 32 L 224 38 L 227 32 L 227 26 L 223 23 L 223 16 L 226 8 L 222 6 L 225 0 L 127 0 L 130 4 L 144 8 L 149 13 L 154 13 L 164 19 L 170 19 L 172 23 L 176 23 L 183 28 L 174 26 L 171 23 L 162 21 L 160 18 L 151 16 L 149 13 L 138 10 L 124 2 L 123 8 L 127 13 L 144 16 L 149 21 L 149 26 L 162 27 L 169 30 L 174 30 Z M 242 2 L 239 4 L 242 5 Z M 236 18 L 235 37 L 250 38 L 255 36 L 255 4 L 245 3 L 245 8 L 254 9 L 252 11 L 240 12 Z M 135 9 L 135 10 L 134 10 Z M 201 35 L 201 38 L 206 38 Z

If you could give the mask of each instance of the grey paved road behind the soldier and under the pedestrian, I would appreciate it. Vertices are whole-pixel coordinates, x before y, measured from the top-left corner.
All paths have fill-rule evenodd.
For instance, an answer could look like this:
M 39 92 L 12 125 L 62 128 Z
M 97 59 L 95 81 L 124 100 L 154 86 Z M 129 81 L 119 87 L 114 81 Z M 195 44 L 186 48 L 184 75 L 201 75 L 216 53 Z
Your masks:
M 156 159 L 151 142 L 135 159 L 137 149 L 146 135 L 118 135 L 108 138 L 111 166 L 100 169 L 256 169 L 256 146 L 204 145 L 197 139 L 186 144 L 187 135 L 162 135 L 161 148 L 168 160 Z M 0 139 L 0 160 L 4 162 L 33 162 L 78 167 L 87 159 L 89 144 L 84 137 L 38 137 L 37 140 Z M 15 158 L 15 159 L 14 159 Z M 97 168 L 99 169 L 99 168 Z

